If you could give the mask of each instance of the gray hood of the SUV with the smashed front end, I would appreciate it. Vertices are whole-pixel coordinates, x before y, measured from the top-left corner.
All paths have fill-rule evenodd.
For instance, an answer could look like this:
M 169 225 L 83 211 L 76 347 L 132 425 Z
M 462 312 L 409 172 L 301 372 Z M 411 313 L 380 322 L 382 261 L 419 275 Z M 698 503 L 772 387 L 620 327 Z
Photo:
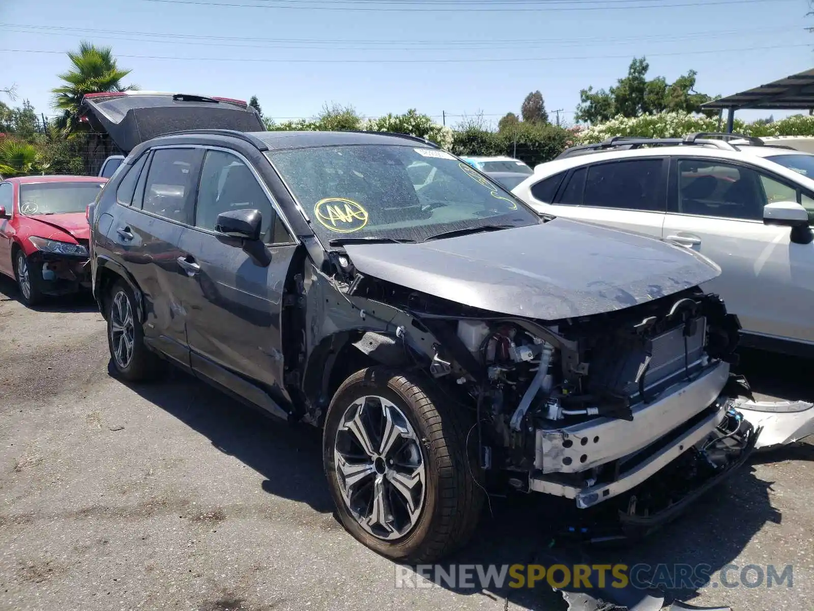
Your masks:
M 419 244 L 344 248 L 364 275 L 543 320 L 622 310 L 720 274 L 682 246 L 564 218 Z

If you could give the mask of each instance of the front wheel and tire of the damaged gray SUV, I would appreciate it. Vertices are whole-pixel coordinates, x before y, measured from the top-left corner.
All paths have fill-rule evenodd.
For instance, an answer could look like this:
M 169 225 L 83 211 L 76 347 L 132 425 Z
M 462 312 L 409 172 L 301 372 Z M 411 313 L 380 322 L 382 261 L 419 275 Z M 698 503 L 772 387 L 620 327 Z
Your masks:
M 466 448 L 474 423 L 438 402 L 426 382 L 384 367 L 357 371 L 330 402 L 322 441 L 345 528 L 374 552 L 416 564 L 462 547 L 484 503 Z

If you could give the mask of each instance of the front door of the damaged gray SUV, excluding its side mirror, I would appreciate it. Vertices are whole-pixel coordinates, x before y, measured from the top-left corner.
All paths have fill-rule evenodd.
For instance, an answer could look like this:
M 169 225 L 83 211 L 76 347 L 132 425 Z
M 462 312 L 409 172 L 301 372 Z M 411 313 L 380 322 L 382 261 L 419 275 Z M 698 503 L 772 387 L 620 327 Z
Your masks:
M 253 245 L 260 250 L 216 234 L 217 215 L 237 209 L 262 214 L 266 245 Z M 182 231 L 178 265 L 186 270 L 182 307 L 193 368 L 275 411 L 258 387 L 276 400 L 288 399 L 280 324 L 296 240 L 251 162 L 219 148 L 204 156 L 192 225 Z M 248 385 L 246 378 L 256 384 Z

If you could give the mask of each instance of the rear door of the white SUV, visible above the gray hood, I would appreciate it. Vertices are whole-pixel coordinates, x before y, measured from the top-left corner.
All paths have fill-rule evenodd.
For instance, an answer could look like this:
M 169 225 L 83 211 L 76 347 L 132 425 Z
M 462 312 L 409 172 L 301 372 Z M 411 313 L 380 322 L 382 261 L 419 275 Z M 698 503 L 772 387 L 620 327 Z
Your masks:
M 666 158 L 583 165 L 531 187 L 541 212 L 661 237 L 667 210 Z

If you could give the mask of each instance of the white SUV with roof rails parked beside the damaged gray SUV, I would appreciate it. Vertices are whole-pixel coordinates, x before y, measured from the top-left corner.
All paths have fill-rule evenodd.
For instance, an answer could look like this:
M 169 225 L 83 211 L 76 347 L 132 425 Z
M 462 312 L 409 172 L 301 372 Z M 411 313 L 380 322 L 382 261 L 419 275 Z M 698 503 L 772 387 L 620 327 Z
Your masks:
M 512 192 L 539 213 L 693 248 L 721 267 L 703 288 L 738 315 L 742 345 L 814 354 L 814 155 L 717 135 L 572 147 Z

